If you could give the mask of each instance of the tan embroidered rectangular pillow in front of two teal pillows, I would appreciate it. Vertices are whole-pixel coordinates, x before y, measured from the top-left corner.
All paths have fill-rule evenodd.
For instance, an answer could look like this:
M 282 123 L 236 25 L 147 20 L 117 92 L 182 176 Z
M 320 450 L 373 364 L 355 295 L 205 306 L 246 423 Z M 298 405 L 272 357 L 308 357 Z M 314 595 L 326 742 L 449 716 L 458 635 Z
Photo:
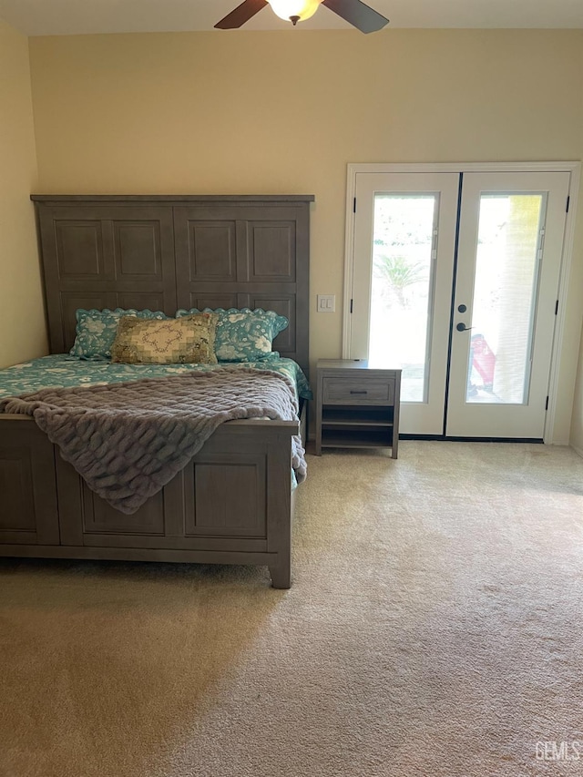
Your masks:
M 217 316 L 195 313 L 157 321 L 122 316 L 111 361 L 128 364 L 216 364 Z

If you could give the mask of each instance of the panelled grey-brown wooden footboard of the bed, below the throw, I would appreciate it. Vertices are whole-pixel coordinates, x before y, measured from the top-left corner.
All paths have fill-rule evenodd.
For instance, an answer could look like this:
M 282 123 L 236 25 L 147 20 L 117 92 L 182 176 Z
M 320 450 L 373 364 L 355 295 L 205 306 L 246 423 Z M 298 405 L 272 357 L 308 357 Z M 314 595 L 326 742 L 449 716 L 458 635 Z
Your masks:
M 291 583 L 297 422 L 222 424 L 133 515 L 92 492 L 35 422 L 0 416 L 0 555 L 256 564 Z

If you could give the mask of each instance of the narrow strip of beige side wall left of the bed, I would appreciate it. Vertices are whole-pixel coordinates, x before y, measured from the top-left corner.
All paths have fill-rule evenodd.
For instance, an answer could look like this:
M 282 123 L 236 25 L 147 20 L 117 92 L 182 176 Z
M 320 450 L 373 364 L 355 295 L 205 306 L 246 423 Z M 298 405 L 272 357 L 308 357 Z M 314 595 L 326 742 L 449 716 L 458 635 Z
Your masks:
M 46 353 L 28 41 L 0 20 L 0 367 Z

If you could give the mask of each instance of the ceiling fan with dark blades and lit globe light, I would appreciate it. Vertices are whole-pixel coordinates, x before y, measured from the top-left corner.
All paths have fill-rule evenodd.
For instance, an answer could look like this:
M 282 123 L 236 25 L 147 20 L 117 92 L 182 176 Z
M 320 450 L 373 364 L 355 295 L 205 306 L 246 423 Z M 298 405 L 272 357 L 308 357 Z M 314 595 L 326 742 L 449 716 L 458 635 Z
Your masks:
M 252 16 L 266 5 L 271 5 L 275 14 L 296 26 L 298 22 L 309 19 L 320 5 L 330 8 L 334 14 L 341 16 L 349 24 L 363 33 L 373 33 L 389 23 L 388 19 L 378 14 L 361 0 L 243 0 L 234 11 L 217 22 L 215 27 L 220 30 L 232 30 L 243 26 Z

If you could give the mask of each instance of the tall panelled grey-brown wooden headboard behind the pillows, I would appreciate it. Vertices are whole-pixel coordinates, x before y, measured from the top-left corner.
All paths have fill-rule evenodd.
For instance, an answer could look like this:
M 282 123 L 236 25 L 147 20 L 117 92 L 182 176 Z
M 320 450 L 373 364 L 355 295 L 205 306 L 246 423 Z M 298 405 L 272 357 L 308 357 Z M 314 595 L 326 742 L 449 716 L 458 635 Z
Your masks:
M 32 195 L 51 353 L 77 308 L 264 308 L 308 373 L 312 195 Z

